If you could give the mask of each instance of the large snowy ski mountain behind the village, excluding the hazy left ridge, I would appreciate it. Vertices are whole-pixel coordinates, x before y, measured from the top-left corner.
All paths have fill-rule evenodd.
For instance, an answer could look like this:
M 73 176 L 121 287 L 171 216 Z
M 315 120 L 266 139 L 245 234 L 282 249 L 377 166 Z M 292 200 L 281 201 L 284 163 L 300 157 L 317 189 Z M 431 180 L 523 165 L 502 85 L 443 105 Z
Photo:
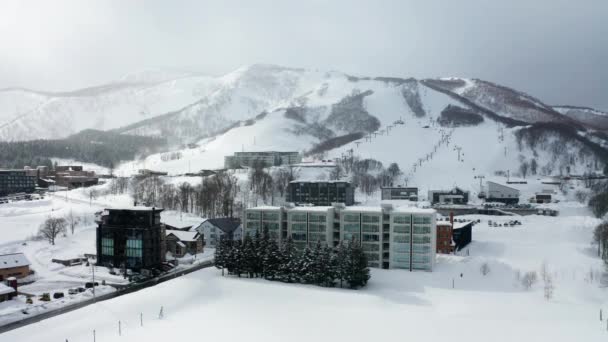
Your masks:
M 224 156 L 236 151 L 296 150 L 311 158 L 352 153 L 397 162 L 402 181 L 423 189 L 475 189 L 474 175 L 516 175 L 522 164 L 534 165 L 537 177 L 583 173 L 601 169 L 606 157 L 601 132 L 585 131 L 576 118 L 485 81 L 256 65 L 223 82 L 181 111 L 123 129 L 194 139 L 197 146 L 181 149 L 179 158 L 156 154 L 126 163 L 121 172 L 148 167 L 179 174 L 221 168 Z

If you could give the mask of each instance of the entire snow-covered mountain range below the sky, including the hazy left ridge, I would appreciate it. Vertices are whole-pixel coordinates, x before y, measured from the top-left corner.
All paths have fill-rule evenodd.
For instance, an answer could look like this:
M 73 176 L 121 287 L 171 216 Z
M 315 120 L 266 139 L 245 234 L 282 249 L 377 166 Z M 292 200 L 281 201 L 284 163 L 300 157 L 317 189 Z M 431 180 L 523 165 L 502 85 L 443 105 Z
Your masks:
M 4 140 L 94 127 L 196 145 L 126 163 L 125 174 L 138 167 L 219 168 L 224 156 L 242 150 L 297 150 L 398 162 L 410 182 L 433 178 L 448 186 L 476 182 L 472 173 L 517 173 L 522 164 L 535 164 L 542 175 L 582 173 L 607 158 L 606 126 L 596 120 L 602 115 L 551 107 L 476 79 L 252 65 L 221 77 L 135 73 L 69 93 L 8 89 L 0 91 L 0 109 Z M 456 151 L 464 154 L 460 160 Z

